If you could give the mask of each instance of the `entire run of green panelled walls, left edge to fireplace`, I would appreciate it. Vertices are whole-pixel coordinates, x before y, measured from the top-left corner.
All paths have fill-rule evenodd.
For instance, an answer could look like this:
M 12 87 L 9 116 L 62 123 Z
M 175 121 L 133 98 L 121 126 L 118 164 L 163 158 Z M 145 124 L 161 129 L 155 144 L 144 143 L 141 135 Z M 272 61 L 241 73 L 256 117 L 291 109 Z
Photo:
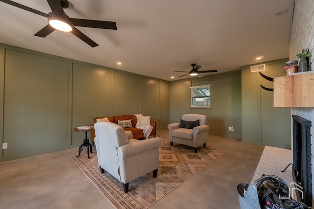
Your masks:
M 262 73 L 283 76 L 287 60 L 267 62 Z M 273 107 L 273 92 L 260 86 L 272 82 L 250 66 L 168 82 L 0 44 L 0 80 L 0 141 L 8 143 L 0 162 L 78 147 L 84 132 L 73 128 L 95 116 L 140 113 L 157 131 L 183 114 L 201 114 L 211 135 L 290 148 L 290 108 Z M 211 107 L 190 108 L 190 87 L 207 84 Z

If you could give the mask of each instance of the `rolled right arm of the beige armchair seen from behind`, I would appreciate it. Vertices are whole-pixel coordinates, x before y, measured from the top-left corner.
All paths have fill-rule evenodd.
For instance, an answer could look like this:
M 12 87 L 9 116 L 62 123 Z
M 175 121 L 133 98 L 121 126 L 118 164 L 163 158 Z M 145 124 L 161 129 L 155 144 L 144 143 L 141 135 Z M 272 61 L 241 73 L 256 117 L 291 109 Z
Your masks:
M 159 137 L 140 140 L 118 147 L 118 156 L 126 158 L 136 153 L 144 152 L 150 149 L 157 148 L 161 145 Z

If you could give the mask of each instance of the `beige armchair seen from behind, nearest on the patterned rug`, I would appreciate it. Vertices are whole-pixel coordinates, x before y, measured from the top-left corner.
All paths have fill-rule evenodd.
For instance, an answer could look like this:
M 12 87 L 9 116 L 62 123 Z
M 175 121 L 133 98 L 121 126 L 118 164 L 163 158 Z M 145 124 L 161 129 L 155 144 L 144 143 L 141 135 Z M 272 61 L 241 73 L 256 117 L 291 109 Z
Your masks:
M 129 191 L 129 182 L 153 171 L 157 177 L 159 166 L 158 137 L 131 139 L 131 131 L 110 122 L 97 122 L 95 145 L 101 173 L 105 171 L 123 183 L 124 192 Z

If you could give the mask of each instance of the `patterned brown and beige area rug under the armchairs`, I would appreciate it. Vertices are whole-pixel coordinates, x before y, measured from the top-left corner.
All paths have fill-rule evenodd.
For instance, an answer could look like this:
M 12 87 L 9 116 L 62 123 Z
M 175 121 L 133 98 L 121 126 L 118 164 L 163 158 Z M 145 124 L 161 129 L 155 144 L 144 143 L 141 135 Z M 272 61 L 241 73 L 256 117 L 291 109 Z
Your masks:
M 71 158 L 117 209 L 146 209 L 225 151 L 207 145 L 194 153 L 193 147 L 177 143 L 171 147 L 169 139 L 161 138 L 157 178 L 150 172 L 131 181 L 128 193 L 124 193 L 122 183 L 117 179 L 107 172 L 100 173 L 95 150 L 90 159 L 86 147 L 78 158 Z

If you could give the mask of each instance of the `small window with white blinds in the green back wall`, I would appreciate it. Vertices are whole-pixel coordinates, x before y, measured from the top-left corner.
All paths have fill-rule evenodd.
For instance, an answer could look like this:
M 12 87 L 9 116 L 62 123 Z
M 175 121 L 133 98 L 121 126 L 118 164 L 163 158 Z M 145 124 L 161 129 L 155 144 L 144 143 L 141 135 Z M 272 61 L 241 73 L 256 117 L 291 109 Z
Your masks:
M 193 86 L 191 89 L 191 107 L 210 108 L 210 85 Z

